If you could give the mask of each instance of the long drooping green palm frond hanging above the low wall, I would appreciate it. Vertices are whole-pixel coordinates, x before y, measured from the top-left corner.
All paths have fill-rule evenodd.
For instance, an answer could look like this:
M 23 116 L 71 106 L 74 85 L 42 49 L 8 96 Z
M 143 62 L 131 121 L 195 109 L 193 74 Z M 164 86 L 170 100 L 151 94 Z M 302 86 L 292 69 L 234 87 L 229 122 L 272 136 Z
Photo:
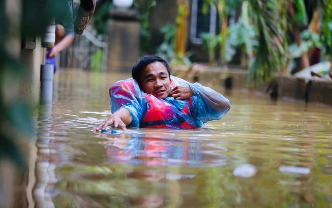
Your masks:
M 258 48 L 255 61 L 249 68 L 248 82 L 260 85 L 268 81 L 283 66 L 285 33 L 278 20 L 277 0 L 249 0 L 253 21 L 258 29 Z M 276 9 L 279 8 L 279 9 Z

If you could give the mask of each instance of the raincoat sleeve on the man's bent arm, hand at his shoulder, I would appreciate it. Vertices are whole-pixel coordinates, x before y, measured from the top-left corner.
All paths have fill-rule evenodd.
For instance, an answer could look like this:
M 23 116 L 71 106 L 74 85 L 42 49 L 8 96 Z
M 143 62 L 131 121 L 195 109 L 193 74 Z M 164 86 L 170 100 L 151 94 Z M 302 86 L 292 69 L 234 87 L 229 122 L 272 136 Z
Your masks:
M 215 90 L 199 83 L 191 84 L 181 78 L 172 77 L 172 79 L 176 85 L 187 85 L 194 92 L 196 112 L 193 112 L 193 115 L 198 122 L 220 120 L 230 109 L 229 100 Z

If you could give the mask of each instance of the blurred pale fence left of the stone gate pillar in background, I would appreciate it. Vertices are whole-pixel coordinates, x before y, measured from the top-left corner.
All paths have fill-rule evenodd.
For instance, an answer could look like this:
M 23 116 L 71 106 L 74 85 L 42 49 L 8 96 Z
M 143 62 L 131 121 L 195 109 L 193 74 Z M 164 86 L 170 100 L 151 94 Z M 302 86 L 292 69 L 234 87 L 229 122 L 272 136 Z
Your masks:
M 82 35 L 75 34 L 71 46 L 60 53 L 60 68 L 106 71 L 108 36 L 94 35 L 88 27 Z

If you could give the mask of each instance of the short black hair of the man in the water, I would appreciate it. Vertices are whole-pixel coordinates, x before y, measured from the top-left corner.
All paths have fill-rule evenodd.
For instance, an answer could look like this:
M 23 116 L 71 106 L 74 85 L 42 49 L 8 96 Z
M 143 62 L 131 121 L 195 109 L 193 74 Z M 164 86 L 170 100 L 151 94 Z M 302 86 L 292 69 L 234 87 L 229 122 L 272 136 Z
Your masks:
M 134 80 L 138 82 L 138 84 L 140 84 L 141 72 L 147 67 L 147 65 L 154 62 L 160 62 L 161 64 L 163 64 L 167 68 L 167 71 L 169 72 L 169 77 L 171 78 L 171 68 L 169 66 L 169 63 L 165 59 L 159 56 L 144 56 L 133 66 L 131 70 L 131 76 Z

